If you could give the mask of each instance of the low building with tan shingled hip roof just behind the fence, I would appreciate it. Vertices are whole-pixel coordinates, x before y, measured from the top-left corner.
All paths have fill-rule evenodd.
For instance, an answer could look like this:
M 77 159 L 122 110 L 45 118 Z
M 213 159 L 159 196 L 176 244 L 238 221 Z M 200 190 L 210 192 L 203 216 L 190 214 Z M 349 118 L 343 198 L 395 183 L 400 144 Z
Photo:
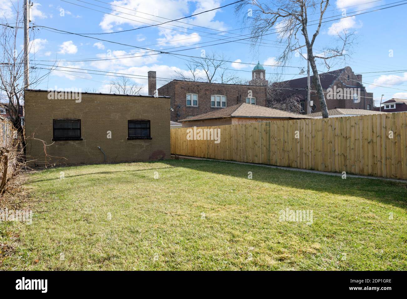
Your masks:
M 247 124 L 249 122 L 271 122 L 313 118 L 312 116 L 281 111 L 258 105 L 240 103 L 225 109 L 218 109 L 197 116 L 179 120 L 182 127 L 207 127 L 226 124 Z

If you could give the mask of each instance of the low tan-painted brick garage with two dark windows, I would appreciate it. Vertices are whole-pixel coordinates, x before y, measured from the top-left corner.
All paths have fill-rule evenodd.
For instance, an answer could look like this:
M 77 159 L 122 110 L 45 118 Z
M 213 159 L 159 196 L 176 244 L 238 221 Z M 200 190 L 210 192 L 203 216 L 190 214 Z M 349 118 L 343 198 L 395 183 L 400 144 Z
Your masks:
M 50 144 L 48 162 L 57 164 L 103 163 L 103 152 L 106 162 L 170 158 L 170 98 L 82 93 L 79 101 L 48 94 L 24 94 L 27 154 L 35 164 L 46 160 L 40 140 Z

